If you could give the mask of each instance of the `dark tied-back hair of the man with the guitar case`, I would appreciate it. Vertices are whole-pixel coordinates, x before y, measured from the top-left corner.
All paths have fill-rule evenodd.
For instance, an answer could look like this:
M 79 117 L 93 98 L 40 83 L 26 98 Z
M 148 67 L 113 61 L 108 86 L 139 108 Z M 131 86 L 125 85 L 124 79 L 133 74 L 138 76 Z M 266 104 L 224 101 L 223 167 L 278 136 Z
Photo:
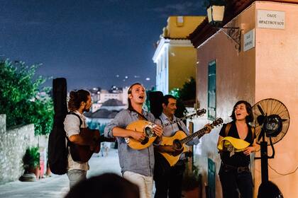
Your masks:
M 89 91 L 80 89 L 78 91 L 70 92 L 70 100 L 68 101 L 68 110 L 75 111 L 78 110 L 82 102 L 87 102 Z

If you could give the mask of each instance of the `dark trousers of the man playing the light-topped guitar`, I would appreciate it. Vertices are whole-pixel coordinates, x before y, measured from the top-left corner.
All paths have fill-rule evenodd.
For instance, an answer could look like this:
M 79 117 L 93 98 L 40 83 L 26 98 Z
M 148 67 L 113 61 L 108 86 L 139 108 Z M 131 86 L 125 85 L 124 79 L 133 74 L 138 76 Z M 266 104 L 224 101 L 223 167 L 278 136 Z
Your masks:
M 180 198 L 182 193 L 182 177 L 185 164 L 182 161 L 174 166 L 169 163 L 160 153 L 155 153 L 155 198 Z

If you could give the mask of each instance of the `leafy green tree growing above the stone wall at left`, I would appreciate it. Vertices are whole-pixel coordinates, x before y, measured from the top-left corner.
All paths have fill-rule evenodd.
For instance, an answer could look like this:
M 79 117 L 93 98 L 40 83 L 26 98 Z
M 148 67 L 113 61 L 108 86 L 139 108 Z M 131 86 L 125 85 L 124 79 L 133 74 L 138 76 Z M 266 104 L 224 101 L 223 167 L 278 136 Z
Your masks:
M 0 113 L 6 114 L 7 127 L 34 124 L 35 135 L 49 134 L 53 100 L 48 96 L 49 88 L 39 90 L 45 78 L 34 78 L 37 68 L 23 62 L 0 62 Z

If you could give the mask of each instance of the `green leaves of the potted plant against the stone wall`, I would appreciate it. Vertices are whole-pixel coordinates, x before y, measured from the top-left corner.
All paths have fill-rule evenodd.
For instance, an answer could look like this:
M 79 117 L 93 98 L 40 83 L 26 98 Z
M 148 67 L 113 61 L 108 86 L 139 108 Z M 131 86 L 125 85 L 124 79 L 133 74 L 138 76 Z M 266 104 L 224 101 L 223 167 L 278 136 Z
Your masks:
M 31 168 L 39 167 L 40 153 L 38 147 L 31 147 L 26 149 L 26 153 L 23 156 L 23 167 L 25 171 Z

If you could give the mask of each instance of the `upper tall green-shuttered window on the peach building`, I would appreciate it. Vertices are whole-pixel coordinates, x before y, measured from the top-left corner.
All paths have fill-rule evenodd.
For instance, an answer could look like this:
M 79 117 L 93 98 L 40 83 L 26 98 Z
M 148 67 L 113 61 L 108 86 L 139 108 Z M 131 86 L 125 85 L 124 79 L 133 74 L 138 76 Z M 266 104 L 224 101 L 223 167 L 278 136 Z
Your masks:
M 216 119 L 216 62 L 208 64 L 208 119 Z

